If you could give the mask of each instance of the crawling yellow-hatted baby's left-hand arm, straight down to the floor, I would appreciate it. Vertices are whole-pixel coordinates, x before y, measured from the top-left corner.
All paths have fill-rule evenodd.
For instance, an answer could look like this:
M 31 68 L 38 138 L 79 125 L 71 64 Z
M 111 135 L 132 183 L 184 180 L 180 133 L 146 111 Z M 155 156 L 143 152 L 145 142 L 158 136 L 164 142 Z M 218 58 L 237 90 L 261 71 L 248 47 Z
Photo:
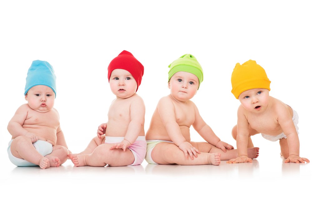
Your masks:
M 249 136 L 249 123 L 246 119 L 245 114 L 243 113 L 243 108 L 240 106 L 237 111 L 237 137 L 236 137 L 236 146 L 238 156 L 233 158 L 227 163 L 252 163 L 251 158 L 247 154 L 247 145 L 248 145 L 248 136 Z

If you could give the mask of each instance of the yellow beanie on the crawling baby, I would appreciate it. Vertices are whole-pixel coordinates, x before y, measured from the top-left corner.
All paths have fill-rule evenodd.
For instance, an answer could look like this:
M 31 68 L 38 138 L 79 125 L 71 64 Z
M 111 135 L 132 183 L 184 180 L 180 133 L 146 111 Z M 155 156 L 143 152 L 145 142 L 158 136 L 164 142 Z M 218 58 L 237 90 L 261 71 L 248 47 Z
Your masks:
M 271 81 L 266 75 L 266 71 L 256 63 L 249 60 L 240 65 L 237 63 L 232 73 L 232 93 L 238 99 L 238 96 L 249 89 L 263 88 L 270 89 Z

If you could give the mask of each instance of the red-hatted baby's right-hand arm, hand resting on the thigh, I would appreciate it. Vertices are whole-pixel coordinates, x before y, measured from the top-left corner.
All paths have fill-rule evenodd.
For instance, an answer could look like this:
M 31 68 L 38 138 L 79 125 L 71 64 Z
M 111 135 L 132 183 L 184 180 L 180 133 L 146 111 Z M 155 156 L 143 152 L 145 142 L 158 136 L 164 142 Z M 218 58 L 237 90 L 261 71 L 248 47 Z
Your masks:
M 121 148 L 126 151 L 126 148 L 133 144 L 139 133 L 144 127 L 145 121 L 145 105 L 143 99 L 138 97 L 130 105 L 130 122 L 124 140 L 118 144 L 114 144 L 110 149 Z

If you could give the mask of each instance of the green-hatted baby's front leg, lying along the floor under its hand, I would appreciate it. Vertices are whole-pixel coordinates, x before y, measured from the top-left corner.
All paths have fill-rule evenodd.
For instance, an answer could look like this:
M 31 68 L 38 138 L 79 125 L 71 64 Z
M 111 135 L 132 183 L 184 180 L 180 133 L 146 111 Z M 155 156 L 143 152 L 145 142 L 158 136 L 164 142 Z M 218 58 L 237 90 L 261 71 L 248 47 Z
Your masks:
M 157 144 L 152 151 L 152 159 L 158 164 L 179 164 L 179 165 L 206 165 L 220 164 L 220 153 L 197 154 L 192 160 L 186 158 L 184 152 L 175 144 L 162 142 Z

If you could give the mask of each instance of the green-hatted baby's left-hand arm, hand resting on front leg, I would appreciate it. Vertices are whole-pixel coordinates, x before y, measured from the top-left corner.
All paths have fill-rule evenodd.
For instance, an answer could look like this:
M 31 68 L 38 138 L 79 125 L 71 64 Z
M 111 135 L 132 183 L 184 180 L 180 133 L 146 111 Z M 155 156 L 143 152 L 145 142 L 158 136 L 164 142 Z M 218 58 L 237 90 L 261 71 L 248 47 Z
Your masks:
M 197 157 L 197 153 L 200 153 L 198 149 L 192 146 L 191 143 L 187 142 L 181 133 L 181 129 L 176 122 L 175 109 L 171 100 L 167 97 L 163 97 L 159 100 L 157 109 L 163 125 L 170 139 L 184 152 L 186 158 L 188 154 L 191 159 L 194 159 L 193 155 Z

